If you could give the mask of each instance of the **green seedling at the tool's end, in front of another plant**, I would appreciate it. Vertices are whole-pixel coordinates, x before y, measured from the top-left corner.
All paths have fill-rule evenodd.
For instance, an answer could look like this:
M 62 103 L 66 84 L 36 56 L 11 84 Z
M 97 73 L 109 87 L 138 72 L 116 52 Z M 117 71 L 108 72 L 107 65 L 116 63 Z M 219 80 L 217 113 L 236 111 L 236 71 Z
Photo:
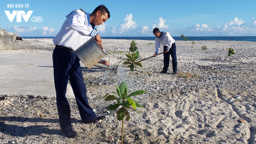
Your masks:
M 140 57 L 138 51 L 135 52 L 135 53 L 132 53 L 132 54 L 128 53 L 128 54 L 125 54 L 125 55 L 128 58 L 126 58 L 126 61 L 123 62 L 123 64 L 125 64 L 125 65 L 128 64 L 127 67 L 130 68 L 132 73 L 134 71 L 134 68 L 135 68 L 135 70 L 137 70 L 138 66 L 142 67 L 142 64 L 140 62 L 136 61 Z

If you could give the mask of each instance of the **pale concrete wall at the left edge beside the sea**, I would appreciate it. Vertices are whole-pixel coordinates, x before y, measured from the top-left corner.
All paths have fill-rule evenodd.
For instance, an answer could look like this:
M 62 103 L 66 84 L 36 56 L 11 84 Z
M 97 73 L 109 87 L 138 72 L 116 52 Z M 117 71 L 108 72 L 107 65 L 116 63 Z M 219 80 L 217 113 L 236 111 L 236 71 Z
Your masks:
M 0 47 L 14 45 L 16 36 L 16 33 L 7 32 L 5 29 L 0 28 Z

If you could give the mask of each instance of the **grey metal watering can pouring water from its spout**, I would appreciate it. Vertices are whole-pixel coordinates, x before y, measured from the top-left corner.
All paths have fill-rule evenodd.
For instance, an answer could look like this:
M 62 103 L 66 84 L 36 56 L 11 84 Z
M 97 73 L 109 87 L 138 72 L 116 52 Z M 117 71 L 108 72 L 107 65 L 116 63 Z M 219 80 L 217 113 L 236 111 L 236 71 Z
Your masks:
M 105 50 L 103 50 L 100 47 L 100 45 L 94 40 L 93 37 L 86 41 L 84 44 L 82 44 L 82 46 L 77 48 L 75 52 L 78 58 L 87 68 L 96 66 L 99 68 L 112 70 L 114 74 L 117 74 L 118 72 L 118 66 L 116 66 L 116 68 L 111 68 L 104 64 L 98 63 L 102 58 L 104 58 L 108 54 Z

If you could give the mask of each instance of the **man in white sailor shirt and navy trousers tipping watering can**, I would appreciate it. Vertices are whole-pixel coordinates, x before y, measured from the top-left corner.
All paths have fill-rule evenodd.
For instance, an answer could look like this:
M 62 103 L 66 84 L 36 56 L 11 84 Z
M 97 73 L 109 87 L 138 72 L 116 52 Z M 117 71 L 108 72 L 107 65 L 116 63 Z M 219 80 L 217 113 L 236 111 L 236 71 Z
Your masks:
M 110 12 L 104 5 L 95 8 L 91 14 L 84 12 L 82 9 L 74 10 L 66 16 L 60 32 L 53 39 L 54 44 L 56 44 L 52 59 L 60 128 L 69 138 L 74 138 L 77 134 L 70 122 L 70 106 L 66 98 L 68 81 L 72 86 L 80 116 L 84 123 L 87 124 L 106 118 L 105 116 L 96 116 L 88 103 L 80 59 L 75 50 L 92 37 L 103 49 L 100 35 L 94 27 L 103 24 L 108 18 L 110 18 Z M 100 60 L 100 63 L 109 66 L 104 59 Z

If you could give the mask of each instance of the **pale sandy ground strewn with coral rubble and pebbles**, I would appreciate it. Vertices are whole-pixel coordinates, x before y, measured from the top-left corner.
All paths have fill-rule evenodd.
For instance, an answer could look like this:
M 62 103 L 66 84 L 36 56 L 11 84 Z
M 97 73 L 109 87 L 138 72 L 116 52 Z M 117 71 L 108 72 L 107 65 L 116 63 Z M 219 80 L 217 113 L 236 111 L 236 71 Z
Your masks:
M 256 144 L 256 42 L 207 40 L 194 41 L 192 46 L 191 41 L 176 40 L 178 73 L 173 75 L 171 64 L 167 74 L 159 73 L 163 55 L 143 61 L 143 67 L 132 74 L 122 64 L 131 41 L 103 39 L 110 66 L 120 65 L 116 75 L 81 63 L 90 106 L 107 118 L 83 124 L 68 86 L 72 125 L 78 133 L 74 139 L 60 130 L 53 74 L 40 86 L 32 81 L 34 93 L 22 92 L 28 84 L 17 74 L 19 67 L 14 78 L 3 79 L 14 71 L 4 63 L 5 54 L 26 53 L 33 58 L 45 54 L 40 59 L 50 62 L 52 39 L 17 40 L 14 46 L 0 48 L 0 144 L 119 144 L 122 122 L 116 120 L 115 110 L 107 109 L 113 102 L 102 97 L 115 92 L 123 80 L 129 93 L 147 90 L 133 97 L 144 108 L 138 108 L 141 114 L 130 112 L 130 120 L 124 122 L 124 144 Z M 141 58 L 154 54 L 154 41 L 135 42 Z M 227 48 L 236 54 L 229 58 Z M 50 63 L 43 66 L 52 70 Z M 40 71 L 34 73 L 27 72 L 32 78 L 40 76 Z M 24 86 L 18 91 L 15 85 L 13 91 L 18 93 L 4 89 L 16 81 Z

